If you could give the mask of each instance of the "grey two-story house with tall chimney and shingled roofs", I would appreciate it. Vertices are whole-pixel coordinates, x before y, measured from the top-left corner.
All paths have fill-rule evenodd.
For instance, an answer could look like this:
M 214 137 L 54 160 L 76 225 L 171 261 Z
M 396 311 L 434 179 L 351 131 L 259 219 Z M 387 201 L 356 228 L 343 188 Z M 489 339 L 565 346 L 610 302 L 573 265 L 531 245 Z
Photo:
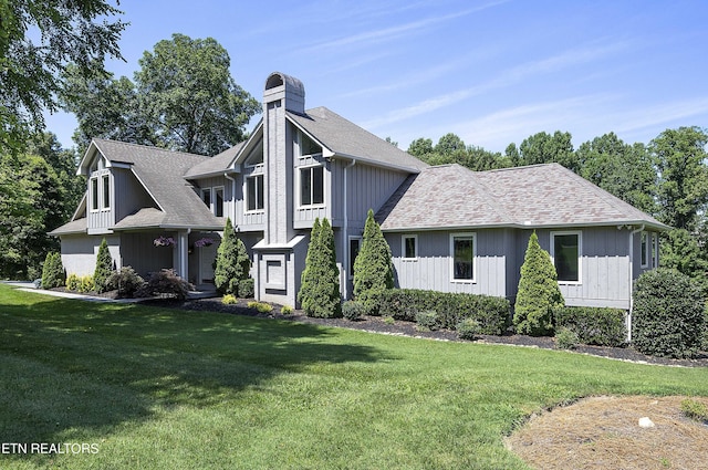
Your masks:
M 658 232 L 668 228 L 560 165 L 429 167 L 304 103 L 299 80 L 272 73 L 250 138 L 211 158 L 94 139 L 79 168 L 86 195 L 52 232 L 67 272 L 93 272 L 106 238 L 116 267 L 174 267 L 208 284 L 230 217 L 253 261 L 257 297 L 295 305 L 310 229 L 326 217 L 348 299 L 369 208 L 400 288 L 513 300 L 533 230 L 569 305 L 628 310 L 633 280 L 658 264 Z

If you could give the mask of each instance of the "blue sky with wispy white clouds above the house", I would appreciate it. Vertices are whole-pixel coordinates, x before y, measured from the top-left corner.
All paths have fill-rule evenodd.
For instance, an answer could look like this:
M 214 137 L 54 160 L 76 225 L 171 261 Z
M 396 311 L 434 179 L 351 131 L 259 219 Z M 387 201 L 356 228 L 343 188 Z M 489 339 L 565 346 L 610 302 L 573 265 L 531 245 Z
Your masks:
M 257 100 L 274 71 L 406 149 L 456 133 L 493 152 L 532 134 L 583 142 L 615 132 L 648 143 L 708 127 L 708 2 L 527 0 L 122 0 L 133 79 L 144 51 L 173 33 L 216 39 Z M 48 118 L 73 146 L 72 115 Z M 249 129 L 250 130 L 250 129 Z

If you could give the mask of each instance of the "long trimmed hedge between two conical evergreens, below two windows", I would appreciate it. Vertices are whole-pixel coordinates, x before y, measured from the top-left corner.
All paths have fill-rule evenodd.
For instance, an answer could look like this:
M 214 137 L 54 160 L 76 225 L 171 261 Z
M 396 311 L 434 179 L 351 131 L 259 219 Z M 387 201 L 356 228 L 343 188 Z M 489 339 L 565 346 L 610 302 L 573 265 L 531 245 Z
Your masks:
M 436 312 L 441 328 L 455 330 L 465 318 L 479 323 L 479 334 L 501 335 L 509 326 L 510 305 L 503 297 L 388 289 L 379 294 L 378 305 L 383 316 L 408 322 L 415 322 L 418 312 Z

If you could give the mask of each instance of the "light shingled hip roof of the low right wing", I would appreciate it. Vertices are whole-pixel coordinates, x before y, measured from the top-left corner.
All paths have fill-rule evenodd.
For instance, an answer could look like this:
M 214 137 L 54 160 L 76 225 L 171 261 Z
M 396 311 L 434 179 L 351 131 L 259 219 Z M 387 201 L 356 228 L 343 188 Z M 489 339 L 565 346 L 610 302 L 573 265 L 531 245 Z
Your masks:
M 654 217 L 559 164 L 471 171 L 457 164 L 409 177 L 376 216 L 384 231 L 645 224 Z

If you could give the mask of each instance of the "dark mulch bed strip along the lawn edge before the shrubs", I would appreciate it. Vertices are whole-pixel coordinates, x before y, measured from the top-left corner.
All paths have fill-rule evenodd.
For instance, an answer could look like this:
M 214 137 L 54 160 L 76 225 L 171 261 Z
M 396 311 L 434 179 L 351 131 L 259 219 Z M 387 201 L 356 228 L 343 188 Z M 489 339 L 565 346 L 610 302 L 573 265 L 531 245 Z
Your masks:
M 279 318 L 288 320 L 301 323 L 336 326 L 351 330 L 362 330 L 374 333 L 424 337 L 439 341 L 464 341 L 457 335 L 457 332 L 449 330 L 439 330 L 433 332 L 420 332 L 416 330 L 416 325 L 413 322 L 395 321 L 393 324 L 386 323 L 381 316 L 365 316 L 360 321 L 350 321 L 345 318 L 313 318 L 305 316 L 302 311 L 294 311 L 292 314 L 283 315 L 280 313 L 280 307 L 275 306 L 270 313 L 260 313 L 254 309 L 247 306 L 247 301 L 239 300 L 237 304 L 223 305 L 220 297 L 215 299 L 199 299 L 185 302 L 165 301 L 165 300 L 150 300 L 143 303 L 149 305 L 159 305 L 167 307 L 176 307 L 190 311 L 209 311 L 209 312 L 222 312 L 235 315 L 248 315 L 266 318 Z M 480 335 L 479 343 L 487 344 L 507 344 L 516 346 L 539 347 L 544 349 L 556 349 L 555 340 L 552 337 L 534 337 L 517 334 L 506 334 L 503 336 Z M 708 353 L 702 352 L 694 359 L 670 359 L 666 357 L 654 357 L 642 354 L 632 347 L 607 347 L 607 346 L 586 346 L 579 345 L 575 353 L 589 354 L 593 356 L 607 357 L 618 361 L 629 361 L 636 363 L 646 364 L 659 364 L 666 366 L 683 366 L 683 367 L 708 367 Z

